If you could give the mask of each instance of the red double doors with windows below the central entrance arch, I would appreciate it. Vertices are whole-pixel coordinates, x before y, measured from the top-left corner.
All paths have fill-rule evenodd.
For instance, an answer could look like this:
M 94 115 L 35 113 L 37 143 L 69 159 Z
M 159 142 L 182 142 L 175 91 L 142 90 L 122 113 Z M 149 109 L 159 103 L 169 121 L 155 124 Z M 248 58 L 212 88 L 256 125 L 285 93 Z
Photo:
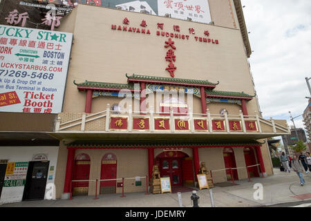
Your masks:
M 160 160 L 161 177 L 170 177 L 171 186 L 182 185 L 181 158 L 162 158 Z

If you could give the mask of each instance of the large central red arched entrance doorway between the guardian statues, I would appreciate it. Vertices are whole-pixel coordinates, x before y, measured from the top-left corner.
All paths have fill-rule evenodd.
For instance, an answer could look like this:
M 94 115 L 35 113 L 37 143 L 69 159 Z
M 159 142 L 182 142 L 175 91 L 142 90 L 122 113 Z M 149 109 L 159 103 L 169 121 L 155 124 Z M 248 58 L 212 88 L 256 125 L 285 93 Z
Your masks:
M 161 177 L 170 177 L 171 186 L 193 184 L 192 159 L 182 151 L 163 151 L 156 157 Z

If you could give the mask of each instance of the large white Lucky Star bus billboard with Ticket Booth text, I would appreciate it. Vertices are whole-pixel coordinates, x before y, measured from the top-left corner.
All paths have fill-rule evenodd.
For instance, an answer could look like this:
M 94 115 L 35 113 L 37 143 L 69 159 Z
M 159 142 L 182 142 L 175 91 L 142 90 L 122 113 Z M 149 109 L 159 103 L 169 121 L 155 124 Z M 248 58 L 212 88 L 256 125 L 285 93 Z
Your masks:
M 0 112 L 62 112 L 72 40 L 72 33 L 0 25 Z

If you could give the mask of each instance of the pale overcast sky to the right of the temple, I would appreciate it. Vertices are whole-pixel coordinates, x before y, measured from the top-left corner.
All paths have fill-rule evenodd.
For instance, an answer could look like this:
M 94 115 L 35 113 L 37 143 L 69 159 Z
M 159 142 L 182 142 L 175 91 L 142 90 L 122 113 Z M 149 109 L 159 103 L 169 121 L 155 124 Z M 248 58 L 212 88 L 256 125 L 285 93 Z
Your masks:
M 252 55 L 249 59 L 263 117 L 301 115 L 311 97 L 311 1 L 241 0 Z M 310 79 L 311 84 L 311 79 Z M 302 117 L 294 119 L 303 127 Z

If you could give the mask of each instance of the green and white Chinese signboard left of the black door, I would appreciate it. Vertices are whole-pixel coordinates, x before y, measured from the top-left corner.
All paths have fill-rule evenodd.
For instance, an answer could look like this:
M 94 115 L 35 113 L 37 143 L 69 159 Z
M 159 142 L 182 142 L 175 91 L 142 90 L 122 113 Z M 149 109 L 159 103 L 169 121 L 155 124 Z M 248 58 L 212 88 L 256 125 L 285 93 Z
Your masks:
M 28 162 L 8 163 L 3 187 L 25 186 Z

